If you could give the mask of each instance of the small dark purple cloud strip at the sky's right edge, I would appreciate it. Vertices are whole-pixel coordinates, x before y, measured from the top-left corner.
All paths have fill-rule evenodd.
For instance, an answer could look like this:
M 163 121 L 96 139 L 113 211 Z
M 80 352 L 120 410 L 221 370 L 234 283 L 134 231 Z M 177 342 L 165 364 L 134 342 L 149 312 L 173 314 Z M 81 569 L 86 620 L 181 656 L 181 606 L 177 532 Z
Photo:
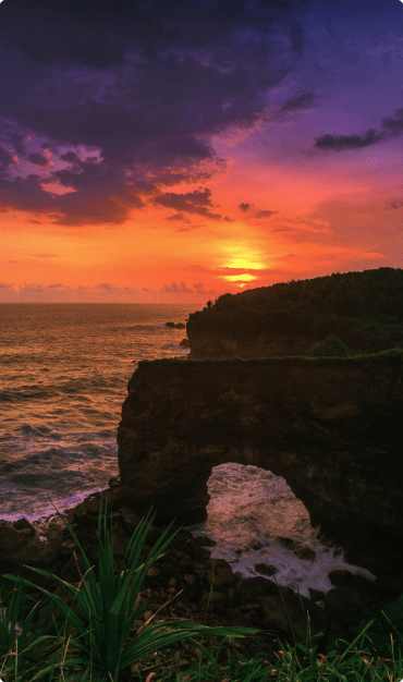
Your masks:
M 381 124 L 383 131 L 377 133 L 373 127 L 365 135 L 322 135 L 316 138 L 314 145 L 317 149 L 341 151 L 343 149 L 362 149 L 370 145 L 384 142 L 390 137 L 398 137 L 403 134 L 403 109 L 396 109 L 394 119 L 383 117 Z

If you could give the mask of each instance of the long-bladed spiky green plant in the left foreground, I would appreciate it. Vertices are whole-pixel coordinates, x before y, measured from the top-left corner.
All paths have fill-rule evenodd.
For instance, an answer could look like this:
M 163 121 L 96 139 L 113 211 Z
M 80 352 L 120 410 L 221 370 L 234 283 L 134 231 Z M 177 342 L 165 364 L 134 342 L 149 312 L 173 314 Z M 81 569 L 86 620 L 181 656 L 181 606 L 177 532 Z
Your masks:
M 66 583 L 57 575 L 53 575 L 42 569 L 30 568 L 30 570 L 46 577 L 52 577 L 63 585 L 76 600 L 83 618 L 80 618 L 75 611 L 72 610 L 72 607 L 69 607 L 58 595 L 30 583 L 24 577 L 8 574 L 4 575 L 4 577 L 10 581 L 39 589 L 51 602 L 54 604 L 57 609 L 65 619 L 65 623 L 73 625 L 75 631 L 78 633 L 77 637 L 75 637 L 71 644 L 74 645 L 75 648 L 80 649 L 82 656 L 64 659 L 62 662 L 59 661 L 57 663 L 54 663 L 53 660 L 51 666 L 44 668 L 30 678 L 33 682 L 34 680 L 42 679 L 49 672 L 53 674 L 54 668 L 60 669 L 62 667 L 71 669 L 74 668 L 76 670 L 74 678 L 72 678 L 74 680 L 82 680 L 84 672 L 90 668 L 91 679 L 94 682 L 101 682 L 109 679 L 112 680 L 112 682 L 118 682 L 123 674 L 130 679 L 131 668 L 135 661 L 157 649 L 172 645 L 174 642 L 179 642 L 181 640 L 194 641 L 194 637 L 200 636 L 205 633 L 241 636 L 244 634 L 255 634 L 257 632 L 256 629 L 248 628 L 209 628 L 207 625 L 199 625 L 198 623 L 187 621 L 160 621 L 151 624 L 151 621 L 158 613 L 157 611 L 157 613 L 151 616 L 136 631 L 134 638 L 130 638 L 130 634 L 135 622 L 139 620 L 147 608 L 147 601 L 139 605 L 139 593 L 147 571 L 150 569 L 152 563 L 157 561 L 157 559 L 163 556 L 163 550 L 174 538 L 179 529 L 166 539 L 172 524 L 168 526 L 150 550 L 146 561 L 142 565 L 137 565 L 142 549 L 154 520 L 154 516 L 149 520 L 149 512 L 133 533 L 122 563 L 118 570 L 118 574 L 114 575 L 113 539 L 110 539 L 107 533 L 107 508 L 105 509 L 103 517 L 103 539 L 101 538 L 101 503 L 98 519 L 98 585 L 94 573 L 94 567 L 90 567 L 89 561 L 74 534 L 74 531 L 60 513 L 59 515 L 63 520 L 64 525 L 68 527 L 82 555 L 86 573 L 84 576 L 82 575 L 80 586 L 75 587 L 74 585 Z M 113 531 L 111 528 L 111 538 L 112 536 Z M 9 614 L 11 612 L 14 618 L 16 613 L 16 604 L 11 607 Z M 14 624 L 15 620 L 16 618 L 14 618 Z M 3 631 L 5 632 L 5 619 L 3 624 L 4 628 L 1 630 L 1 633 L 3 633 Z M 23 638 L 26 636 L 25 633 L 27 628 L 28 625 L 25 624 L 22 633 Z M 60 635 L 60 638 L 63 646 L 65 643 L 65 631 L 64 635 Z M 2 648 L 5 648 L 5 650 L 8 650 L 8 638 L 4 637 Z M 40 642 L 38 641 L 36 644 L 39 643 Z M 26 654 L 26 651 L 24 653 Z M 13 670 L 14 672 L 16 671 L 15 666 L 14 668 L 11 666 L 8 673 Z

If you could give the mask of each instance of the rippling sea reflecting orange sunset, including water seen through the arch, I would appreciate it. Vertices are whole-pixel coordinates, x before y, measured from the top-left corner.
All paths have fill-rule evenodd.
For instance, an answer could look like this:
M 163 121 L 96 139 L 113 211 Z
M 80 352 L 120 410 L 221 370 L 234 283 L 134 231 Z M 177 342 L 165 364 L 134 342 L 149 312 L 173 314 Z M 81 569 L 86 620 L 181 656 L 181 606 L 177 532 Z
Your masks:
M 0 304 L 0 519 L 28 521 L 74 507 L 117 476 L 117 428 L 139 360 L 179 357 L 192 304 Z M 245 576 L 257 562 L 309 597 L 332 587 L 328 572 L 375 580 L 320 544 L 303 503 L 281 476 L 256 466 L 217 466 L 208 519 L 192 526 L 217 543 L 212 557 Z M 276 536 L 316 551 L 300 559 Z M 252 544 L 252 546 L 251 546 Z M 259 547 L 260 545 L 260 547 Z M 322 602 L 319 602 L 322 605 Z

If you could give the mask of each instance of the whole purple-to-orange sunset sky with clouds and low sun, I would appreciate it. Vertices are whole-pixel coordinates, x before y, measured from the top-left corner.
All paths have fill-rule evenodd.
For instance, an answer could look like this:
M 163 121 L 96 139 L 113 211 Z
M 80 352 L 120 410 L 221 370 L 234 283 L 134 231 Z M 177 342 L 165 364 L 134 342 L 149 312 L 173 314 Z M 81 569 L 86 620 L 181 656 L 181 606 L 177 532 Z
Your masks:
M 0 302 L 403 267 L 401 0 L 2 0 Z

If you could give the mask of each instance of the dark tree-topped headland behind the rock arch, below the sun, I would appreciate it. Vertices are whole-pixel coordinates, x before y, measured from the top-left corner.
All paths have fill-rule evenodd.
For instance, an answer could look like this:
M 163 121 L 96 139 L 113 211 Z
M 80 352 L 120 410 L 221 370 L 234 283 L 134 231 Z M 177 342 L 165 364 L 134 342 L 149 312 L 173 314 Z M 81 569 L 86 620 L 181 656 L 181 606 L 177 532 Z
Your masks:
M 193 313 L 188 360 L 305 355 L 329 334 L 351 355 L 403 346 L 403 270 L 333 273 L 224 294 Z

